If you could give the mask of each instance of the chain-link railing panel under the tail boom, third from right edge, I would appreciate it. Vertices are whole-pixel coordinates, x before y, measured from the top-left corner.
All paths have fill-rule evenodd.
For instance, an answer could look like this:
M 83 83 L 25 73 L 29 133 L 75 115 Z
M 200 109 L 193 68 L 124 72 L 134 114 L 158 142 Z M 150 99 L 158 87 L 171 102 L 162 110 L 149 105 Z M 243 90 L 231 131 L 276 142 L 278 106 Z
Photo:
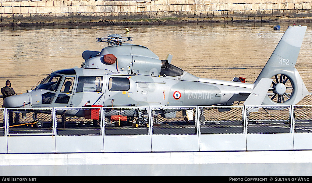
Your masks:
M 243 134 L 243 107 L 200 107 L 200 134 Z

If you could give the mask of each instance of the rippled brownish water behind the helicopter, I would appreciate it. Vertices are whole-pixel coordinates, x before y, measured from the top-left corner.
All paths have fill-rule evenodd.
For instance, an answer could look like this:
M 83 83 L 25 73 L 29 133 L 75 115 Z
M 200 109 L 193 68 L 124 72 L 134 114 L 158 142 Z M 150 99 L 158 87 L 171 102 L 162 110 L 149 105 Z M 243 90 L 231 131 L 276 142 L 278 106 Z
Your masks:
M 101 51 L 97 37 L 133 36 L 129 42 L 148 47 L 159 59 L 173 55 L 172 64 L 203 78 L 253 83 L 291 23 L 191 23 L 178 25 L 0 27 L 0 86 L 10 80 L 25 93 L 52 71 L 80 67 L 85 50 Z M 297 70 L 312 90 L 312 24 L 300 50 Z

